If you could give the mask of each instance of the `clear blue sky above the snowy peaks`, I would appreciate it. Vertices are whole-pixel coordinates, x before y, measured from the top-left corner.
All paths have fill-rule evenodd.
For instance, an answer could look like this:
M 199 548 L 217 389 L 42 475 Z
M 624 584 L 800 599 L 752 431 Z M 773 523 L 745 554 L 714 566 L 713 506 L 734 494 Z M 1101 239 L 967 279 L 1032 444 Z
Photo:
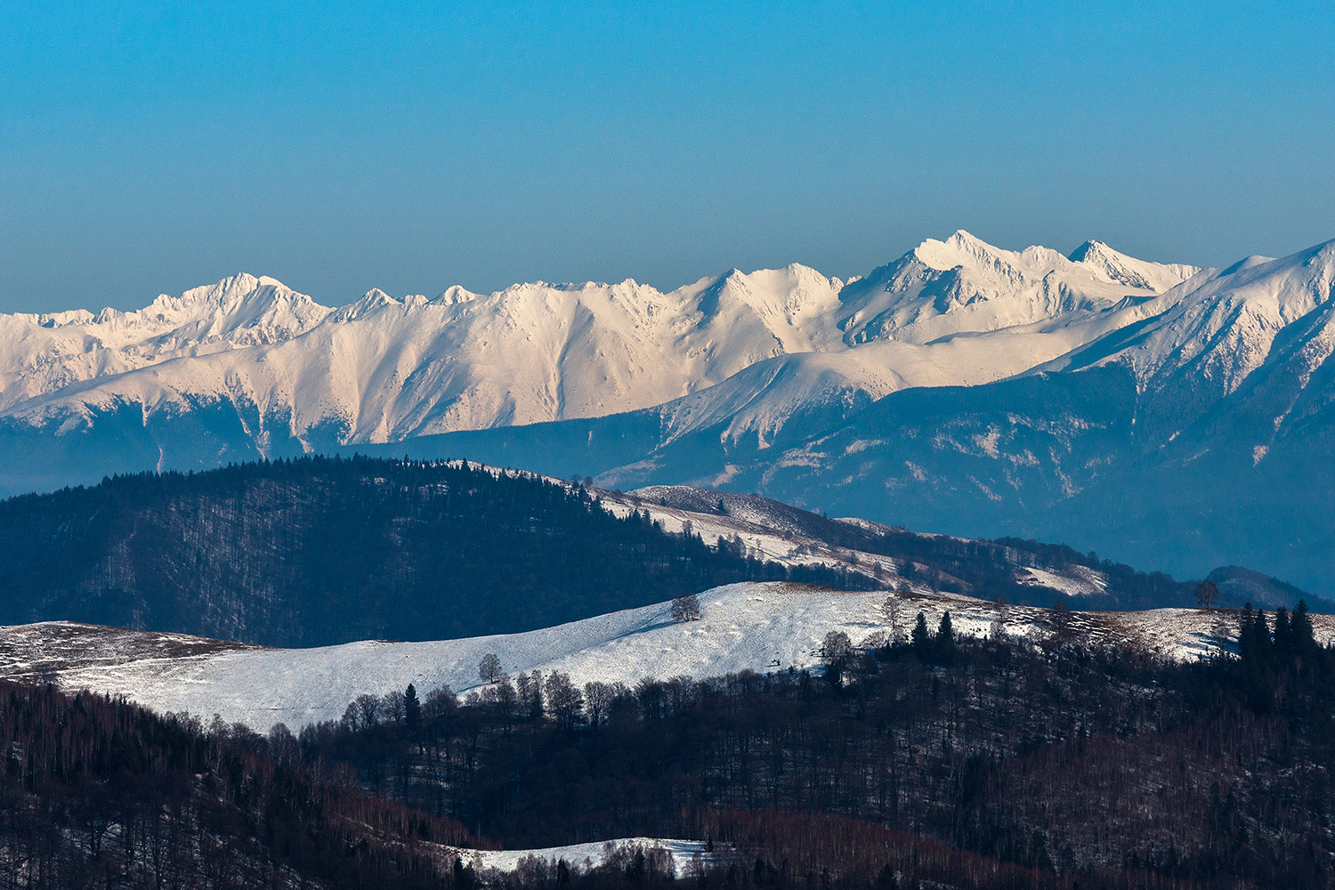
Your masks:
M 0 311 L 1335 238 L 1326 4 L 17 7 Z

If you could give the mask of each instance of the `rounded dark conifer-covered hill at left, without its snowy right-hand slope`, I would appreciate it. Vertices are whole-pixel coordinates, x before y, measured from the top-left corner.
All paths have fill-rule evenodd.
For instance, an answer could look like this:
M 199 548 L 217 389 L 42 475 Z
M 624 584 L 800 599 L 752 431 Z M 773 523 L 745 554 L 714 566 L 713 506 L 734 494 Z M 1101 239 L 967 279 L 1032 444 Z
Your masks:
M 466 462 L 303 458 L 0 503 L 0 623 L 68 619 L 267 646 L 505 634 L 785 568 L 582 487 Z

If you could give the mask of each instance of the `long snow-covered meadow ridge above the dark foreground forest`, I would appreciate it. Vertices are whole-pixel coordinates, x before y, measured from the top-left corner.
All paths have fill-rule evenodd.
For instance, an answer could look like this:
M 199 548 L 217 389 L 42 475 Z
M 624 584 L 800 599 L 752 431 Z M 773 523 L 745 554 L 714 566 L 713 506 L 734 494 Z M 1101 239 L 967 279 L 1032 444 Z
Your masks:
M 53 681 L 65 690 L 125 695 L 158 711 L 214 714 L 259 731 L 336 721 L 363 693 L 382 695 L 414 683 L 422 694 L 481 686 L 478 663 L 490 652 L 511 675 L 563 671 L 579 685 L 633 685 L 645 678 L 717 677 L 820 664 L 825 634 L 853 643 L 892 634 L 888 594 L 844 592 L 786 582 L 741 583 L 700 595 L 701 619 L 674 623 L 670 603 L 631 608 L 526 634 L 429 643 L 359 642 L 280 650 L 179 634 L 49 622 L 0 628 L 0 677 Z M 934 627 L 949 610 L 957 632 L 984 635 L 1000 616 L 1004 632 L 1052 632 L 1043 608 L 997 606 L 952 594 L 897 594 L 898 632 L 918 611 Z M 1335 636 L 1335 616 L 1312 615 L 1318 639 Z M 1171 658 L 1193 658 L 1228 644 L 1236 615 L 1224 610 L 1075 612 L 1072 632 L 1123 640 Z

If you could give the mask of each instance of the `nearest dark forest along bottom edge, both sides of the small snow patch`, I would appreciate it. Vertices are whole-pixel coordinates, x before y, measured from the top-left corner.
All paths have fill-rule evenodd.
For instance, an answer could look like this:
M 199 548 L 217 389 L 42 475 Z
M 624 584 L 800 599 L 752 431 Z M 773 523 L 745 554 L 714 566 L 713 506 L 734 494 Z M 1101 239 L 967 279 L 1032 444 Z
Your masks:
M 463 826 L 367 797 L 282 727 L 259 737 L 124 701 L 0 683 L 0 887 L 438 890 L 1177 889 L 1153 873 L 1057 875 L 866 821 L 697 813 L 702 859 L 629 846 L 598 867 L 478 874 Z M 932 883 L 934 882 L 934 883 Z

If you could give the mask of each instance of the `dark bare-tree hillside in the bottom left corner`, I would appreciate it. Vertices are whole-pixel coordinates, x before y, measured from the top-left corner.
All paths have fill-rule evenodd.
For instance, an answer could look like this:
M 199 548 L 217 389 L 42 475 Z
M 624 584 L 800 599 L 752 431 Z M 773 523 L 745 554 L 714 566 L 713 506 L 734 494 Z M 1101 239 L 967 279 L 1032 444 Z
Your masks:
M 318 778 L 290 734 L 0 683 L 0 743 L 3 887 L 446 887 L 431 842 L 471 841 Z

